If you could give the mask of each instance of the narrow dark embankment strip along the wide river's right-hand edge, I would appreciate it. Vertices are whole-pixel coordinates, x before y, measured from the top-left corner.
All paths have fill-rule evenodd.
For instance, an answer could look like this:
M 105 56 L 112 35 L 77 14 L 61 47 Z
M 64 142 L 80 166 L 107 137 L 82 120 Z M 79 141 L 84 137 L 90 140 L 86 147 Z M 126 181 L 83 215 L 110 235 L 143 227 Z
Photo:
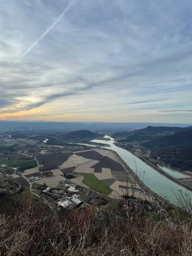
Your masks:
M 151 168 L 155 169 L 157 172 L 159 172 L 160 174 L 164 175 L 166 178 L 168 178 L 169 180 L 172 180 L 173 182 L 177 183 L 180 186 L 183 186 L 185 189 L 188 189 L 190 191 L 192 191 L 192 187 L 187 186 L 186 184 L 180 182 L 179 180 L 175 179 L 174 177 L 172 177 L 171 175 L 169 175 L 168 173 L 164 172 L 162 169 L 158 168 L 157 166 L 153 165 L 151 162 L 149 162 L 147 159 L 145 159 L 144 157 L 140 156 L 139 154 L 135 153 L 134 151 L 132 151 L 131 149 L 127 149 L 122 147 L 121 145 L 118 145 L 117 143 L 114 143 L 116 146 L 118 146 L 119 148 L 123 148 L 129 152 L 131 152 L 131 154 L 134 154 L 134 156 L 138 157 L 140 160 L 142 160 L 144 163 L 146 163 L 148 166 L 151 166 Z

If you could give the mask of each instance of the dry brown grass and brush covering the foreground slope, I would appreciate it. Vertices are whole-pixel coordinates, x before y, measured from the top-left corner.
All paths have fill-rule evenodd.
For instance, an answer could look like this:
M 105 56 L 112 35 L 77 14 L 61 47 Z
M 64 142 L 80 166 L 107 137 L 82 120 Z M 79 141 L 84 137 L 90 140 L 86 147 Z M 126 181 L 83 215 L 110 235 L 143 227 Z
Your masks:
M 117 218 L 118 219 L 118 218 Z M 93 208 L 47 214 L 32 198 L 0 215 L 0 256 L 191 256 L 192 219 L 136 213 L 97 218 Z

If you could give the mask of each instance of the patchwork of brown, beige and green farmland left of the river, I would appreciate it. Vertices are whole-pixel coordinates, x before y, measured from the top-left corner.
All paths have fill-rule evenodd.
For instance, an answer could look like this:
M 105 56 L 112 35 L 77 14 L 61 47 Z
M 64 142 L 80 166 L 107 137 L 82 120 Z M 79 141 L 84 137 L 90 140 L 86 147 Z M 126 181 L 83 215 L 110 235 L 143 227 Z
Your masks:
M 3 172 L 12 175 L 21 186 L 26 185 L 21 177 L 23 173 L 32 183 L 38 184 L 37 186 L 45 183 L 54 188 L 60 186 L 61 182 L 70 180 L 110 197 L 121 198 L 125 194 L 125 187 L 120 189 L 120 185 L 130 182 L 130 177 L 113 152 L 76 144 L 77 141 L 89 141 L 96 134 L 83 130 L 63 137 L 62 133 L 37 136 L 33 134 L 29 137 L 17 133 L 13 136 L 16 137 L 9 137 L 8 142 L 4 143 L 0 163 L 3 164 Z M 58 144 L 58 140 L 53 139 L 55 137 L 59 137 Z M 42 143 L 45 138 L 48 140 Z M 73 143 L 60 143 L 66 138 L 73 140 Z

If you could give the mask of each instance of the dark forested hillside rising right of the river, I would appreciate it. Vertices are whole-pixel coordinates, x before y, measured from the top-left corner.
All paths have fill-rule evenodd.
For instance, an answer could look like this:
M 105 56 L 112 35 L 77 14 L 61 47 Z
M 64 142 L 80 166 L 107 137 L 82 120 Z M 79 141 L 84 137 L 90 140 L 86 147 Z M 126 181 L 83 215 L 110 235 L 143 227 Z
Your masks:
M 148 126 L 127 133 L 115 133 L 112 137 L 119 143 L 127 144 L 128 149 L 150 149 L 151 157 L 160 157 L 160 160 L 176 169 L 192 171 L 192 126 Z

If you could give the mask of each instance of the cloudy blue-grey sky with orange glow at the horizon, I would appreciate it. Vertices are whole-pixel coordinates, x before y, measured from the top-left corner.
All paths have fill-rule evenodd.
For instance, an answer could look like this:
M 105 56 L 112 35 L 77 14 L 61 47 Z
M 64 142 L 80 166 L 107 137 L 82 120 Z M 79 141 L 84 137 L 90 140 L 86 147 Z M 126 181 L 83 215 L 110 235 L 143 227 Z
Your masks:
M 192 123 L 192 0 L 0 2 L 0 120 Z

